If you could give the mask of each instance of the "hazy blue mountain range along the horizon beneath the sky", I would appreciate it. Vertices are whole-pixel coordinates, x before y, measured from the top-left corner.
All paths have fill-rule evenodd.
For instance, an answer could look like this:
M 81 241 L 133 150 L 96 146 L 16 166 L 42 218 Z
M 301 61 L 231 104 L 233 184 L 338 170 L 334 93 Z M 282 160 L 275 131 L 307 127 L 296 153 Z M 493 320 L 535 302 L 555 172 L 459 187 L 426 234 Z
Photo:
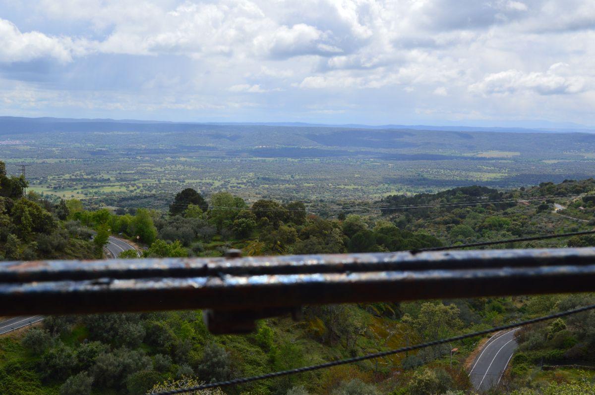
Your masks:
M 0 134 L 21 134 L 35 132 L 103 132 L 103 131 L 190 131 L 201 125 L 220 126 L 269 126 L 291 128 L 348 128 L 348 129 L 407 129 L 454 132 L 509 132 L 509 133 L 595 133 L 594 128 L 569 124 L 568 127 L 524 128 L 524 127 L 471 127 L 433 125 L 361 125 L 361 124 L 308 124 L 305 122 L 168 122 L 139 121 L 135 119 L 74 119 L 74 118 L 24 118 L 0 116 Z

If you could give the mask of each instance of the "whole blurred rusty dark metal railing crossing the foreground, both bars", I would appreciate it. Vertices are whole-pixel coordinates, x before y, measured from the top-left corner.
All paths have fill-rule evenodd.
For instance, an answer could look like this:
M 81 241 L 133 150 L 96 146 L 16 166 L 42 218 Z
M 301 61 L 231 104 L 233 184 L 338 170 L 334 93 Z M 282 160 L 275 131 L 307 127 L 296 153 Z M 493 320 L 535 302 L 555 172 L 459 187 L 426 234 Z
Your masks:
M 588 291 L 593 248 L 0 263 L 0 315 L 200 308 L 215 333 L 305 304 Z

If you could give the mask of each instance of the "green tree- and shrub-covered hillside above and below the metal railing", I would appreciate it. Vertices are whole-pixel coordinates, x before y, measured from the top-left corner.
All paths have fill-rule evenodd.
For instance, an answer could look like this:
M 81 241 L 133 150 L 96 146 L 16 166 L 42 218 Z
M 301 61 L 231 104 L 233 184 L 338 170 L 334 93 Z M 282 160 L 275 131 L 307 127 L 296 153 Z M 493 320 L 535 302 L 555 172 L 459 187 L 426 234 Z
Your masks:
M 399 251 L 587 230 L 595 224 L 594 179 L 507 191 L 461 187 L 393 195 L 334 204 L 324 213 L 312 213 L 300 201 L 249 204 L 230 192 L 203 196 L 191 188 L 173 197 L 168 211 L 87 210 L 79 200 L 23 197 L 26 187 L 24 178 L 7 176 L 0 162 L 4 260 L 99 258 L 109 235 L 138 242 L 145 257 L 214 257 L 229 248 L 241 248 L 245 255 Z M 554 204 L 563 209 L 554 212 Z M 595 238 L 501 248 L 566 245 L 591 246 Z M 121 256 L 135 258 L 136 252 Z M 302 321 L 263 320 L 245 336 L 213 336 L 201 311 L 46 317 L 39 326 L 0 337 L 0 393 L 145 394 L 393 349 L 593 303 L 593 295 L 580 294 L 305 306 Z M 519 350 L 493 393 L 593 394 L 593 328 L 595 313 L 589 312 L 521 330 Z M 459 352 L 452 366 L 450 347 L 433 347 L 223 388 L 223 393 L 472 394 L 465 364 L 479 340 L 453 345 Z M 575 367 L 544 370 L 544 365 Z

